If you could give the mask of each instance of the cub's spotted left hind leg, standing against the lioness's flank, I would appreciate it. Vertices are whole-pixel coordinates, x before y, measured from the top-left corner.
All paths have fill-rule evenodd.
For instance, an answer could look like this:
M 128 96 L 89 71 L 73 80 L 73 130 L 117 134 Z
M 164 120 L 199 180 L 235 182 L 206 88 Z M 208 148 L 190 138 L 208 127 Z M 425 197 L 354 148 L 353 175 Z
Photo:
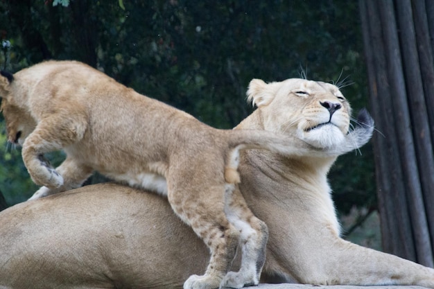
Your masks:
M 184 282 L 184 289 L 219 288 L 232 266 L 239 232 L 225 216 L 224 190 L 224 184 L 196 189 L 188 184 L 173 184 L 168 179 L 168 201 L 173 211 L 202 238 L 211 254 L 205 274 L 191 275 Z

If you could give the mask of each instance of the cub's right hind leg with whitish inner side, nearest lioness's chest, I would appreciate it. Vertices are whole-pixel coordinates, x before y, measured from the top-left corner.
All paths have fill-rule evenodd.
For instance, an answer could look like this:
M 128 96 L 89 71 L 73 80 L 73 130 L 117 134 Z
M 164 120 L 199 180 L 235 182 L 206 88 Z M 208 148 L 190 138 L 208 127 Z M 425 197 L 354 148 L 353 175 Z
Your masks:
M 226 274 L 221 287 L 258 285 L 266 261 L 268 227 L 250 211 L 238 187 L 234 191 L 226 191 L 225 213 L 229 222 L 240 232 L 241 266 L 238 272 Z

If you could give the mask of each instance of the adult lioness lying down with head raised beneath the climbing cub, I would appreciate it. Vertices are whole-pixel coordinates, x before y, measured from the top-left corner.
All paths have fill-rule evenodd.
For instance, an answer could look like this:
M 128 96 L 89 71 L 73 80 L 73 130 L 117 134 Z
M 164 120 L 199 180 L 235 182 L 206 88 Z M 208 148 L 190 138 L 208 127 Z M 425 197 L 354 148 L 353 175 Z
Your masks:
M 337 89 L 254 80 L 249 99 L 259 107 L 236 129 L 291 133 L 315 114 L 312 125 L 321 123 L 327 110 L 311 86 Z M 327 184 L 333 160 L 261 150 L 241 155 L 234 194 L 270 232 L 261 281 L 434 288 L 433 269 L 340 238 Z M 0 287 L 8 289 L 180 288 L 208 259 L 207 247 L 163 198 L 128 186 L 85 186 L 0 213 Z

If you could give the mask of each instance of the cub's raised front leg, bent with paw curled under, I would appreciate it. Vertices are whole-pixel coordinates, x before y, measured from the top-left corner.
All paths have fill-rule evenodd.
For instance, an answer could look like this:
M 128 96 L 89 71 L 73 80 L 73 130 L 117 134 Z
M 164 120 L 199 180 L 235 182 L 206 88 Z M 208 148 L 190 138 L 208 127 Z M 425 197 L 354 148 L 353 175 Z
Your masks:
M 44 154 L 62 150 L 80 140 L 86 128 L 82 123 L 76 119 L 52 116 L 41 121 L 28 135 L 21 154 L 35 184 L 49 189 L 56 189 L 64 184 L 62 175 L 49 165 L 44 159 Z

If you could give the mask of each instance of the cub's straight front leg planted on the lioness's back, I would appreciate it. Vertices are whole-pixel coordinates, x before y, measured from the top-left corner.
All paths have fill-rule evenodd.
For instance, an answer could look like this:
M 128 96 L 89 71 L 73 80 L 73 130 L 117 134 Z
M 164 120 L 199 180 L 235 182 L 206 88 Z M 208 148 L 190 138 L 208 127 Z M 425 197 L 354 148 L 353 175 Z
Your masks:
M 54 193 L 60 193 L 62 191 L 68 191 L 80 187 L 85 180 L 92 175 L 92 168 L 78 164 L 72 157 L 67 157 L 58 168 L 55 169 L 62 177 L 63 184 L 58 188 L 48 188 L 42 186 L 37 190 L 30 199 L 35 200 L 47 195 L 53 195 Z

